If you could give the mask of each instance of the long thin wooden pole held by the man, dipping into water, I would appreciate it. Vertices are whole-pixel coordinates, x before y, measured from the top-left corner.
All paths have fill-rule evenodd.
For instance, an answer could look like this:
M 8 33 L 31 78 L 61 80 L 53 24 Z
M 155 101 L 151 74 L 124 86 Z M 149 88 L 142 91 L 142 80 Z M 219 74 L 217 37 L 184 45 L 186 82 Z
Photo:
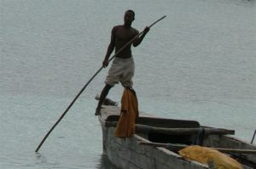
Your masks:
M 166 15 L 161 17 L 159 20 L 156 20 L 153 24 L 149 25 L 148 27 L 152 27 L 154 24 L 156 24 L 157 22 L 159 22 L 160 20 L 163 20 L 164 18 L 166 18 Z M 111 61 L 116 55 L 118 55 L 121 51 L 124 50 L 124 48 L 126 48 L 128 45 L 130 45 L 135 39 L 137 39 L 137 37 L 139 37 L 140 35 L 143 34 L 144 31 L 140 32 L 136 37 L 133 37 L 131 39 L 130 42 L 127 42 L 125 44 L 124 47 L 120 48 L 118 52 L 116 52 L 112 58 L 110 58 L 108 61 Z M 46 138 L 48 138 L 49 133 L 52 132 L 54 130 L 54 128 L 58 125 L 58 123 L 61 121 L 61 119 L 67 114 L 67 111 L 73 106 L 73 104 L 75 103 L 75 101 L 79 98 L 80 94 L 84 92 L 84 89 L 89 85 L 89 83 L 97 76 L 97 74 L 103 69 L 103 66 L 96 71 L 96 73 L 90 78 L 90 80 L 84 85 L 84 87 L 80 90 L 80 92 L 78 93 L 78 95 L 73 99 L 73 101 L 68 105 L 67 109 L 64 111 L 64 113 L 61 115 L 61 117 L 59 118 L 58 121 L 55 122 L 54 126 L 50 128 L 49 132 L 47 132 L 47 134 L 44 136 L 43 140 L 41 141 L 41 143 L 38 145 L 38 148 L 36 149 L 35 152 L 38 152 L 38 150 L 41 148 L 41 146 L 44 144 L 44 141 Z

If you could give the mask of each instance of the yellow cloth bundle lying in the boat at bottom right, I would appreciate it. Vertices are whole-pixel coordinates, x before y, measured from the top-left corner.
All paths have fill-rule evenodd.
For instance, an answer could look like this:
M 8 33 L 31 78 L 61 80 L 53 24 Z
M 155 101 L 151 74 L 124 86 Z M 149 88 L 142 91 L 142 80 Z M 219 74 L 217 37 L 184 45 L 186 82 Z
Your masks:
M 216 149 L 201 147 L 198 145 L 189 146 L 178 151 L 184 159 L 199 161 L 204 164 L 213 162 L 217 169 L 242 169 L 241 164 L 228 155 L 224 155 Z

